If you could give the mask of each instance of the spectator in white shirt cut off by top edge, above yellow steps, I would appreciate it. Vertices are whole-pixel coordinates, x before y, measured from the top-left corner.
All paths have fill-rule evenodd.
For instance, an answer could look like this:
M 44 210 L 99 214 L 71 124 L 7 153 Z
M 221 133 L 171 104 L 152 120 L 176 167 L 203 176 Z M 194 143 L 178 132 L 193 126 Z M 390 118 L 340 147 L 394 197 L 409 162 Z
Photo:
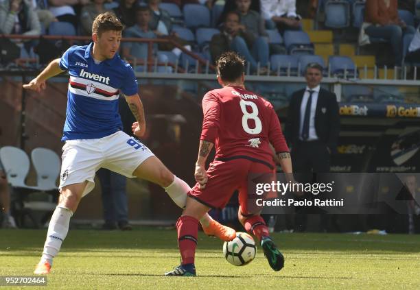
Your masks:
M 296 0 L 261 0 L 261 14 L 268 29 L 301 29 L 301 16 L 296 14 Z

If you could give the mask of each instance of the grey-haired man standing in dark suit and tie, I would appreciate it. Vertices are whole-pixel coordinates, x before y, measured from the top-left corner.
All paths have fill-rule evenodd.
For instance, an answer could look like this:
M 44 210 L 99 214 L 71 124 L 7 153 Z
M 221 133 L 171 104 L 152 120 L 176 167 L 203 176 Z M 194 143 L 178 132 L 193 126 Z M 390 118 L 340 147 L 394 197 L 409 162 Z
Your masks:
M 330 156 L 337 152 L 339 109 L 336 95 L 320 88 L 322 71 L 320 64 L 308 64 L 306 88 L 294 92 L 290 99 L 284 135 L 290 145 L 293 171 L 298 173 L 299 182 L 313 182 L 313 173 L 329 172 Z M 306 174 L 299 178 L 299 173 Z M 306 220 L 306 215 L 296 216 L 297 230 L 305 230 Z M 327 230 L 325 215 L 321 217 L 320 230 Z

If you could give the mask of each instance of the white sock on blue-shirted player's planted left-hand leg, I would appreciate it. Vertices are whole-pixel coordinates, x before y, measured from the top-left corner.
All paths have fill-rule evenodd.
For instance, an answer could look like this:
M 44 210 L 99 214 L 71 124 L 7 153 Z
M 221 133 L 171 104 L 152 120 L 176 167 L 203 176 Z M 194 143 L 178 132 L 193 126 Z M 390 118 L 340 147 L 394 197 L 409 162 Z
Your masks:
M 45 240 L 44 252 L 41 257 L 41 263 L 48 261 L 52 265 L 52 259 L 60 251 L 62 241 L 69 232 L 70 218 L 73 215 L 69 208 L 57 206 L 49 221 L 47 239 Z

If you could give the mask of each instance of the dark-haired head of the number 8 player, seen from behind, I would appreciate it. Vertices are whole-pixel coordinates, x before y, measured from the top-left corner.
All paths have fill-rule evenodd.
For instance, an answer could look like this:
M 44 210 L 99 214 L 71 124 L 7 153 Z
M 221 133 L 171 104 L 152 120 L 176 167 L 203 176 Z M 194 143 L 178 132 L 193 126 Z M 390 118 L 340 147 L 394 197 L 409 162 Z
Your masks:
M 244 59 L 233 51 L 224 52 L 216 62 L 216 69 L 222 80 L 233 82 L 244 73 Z

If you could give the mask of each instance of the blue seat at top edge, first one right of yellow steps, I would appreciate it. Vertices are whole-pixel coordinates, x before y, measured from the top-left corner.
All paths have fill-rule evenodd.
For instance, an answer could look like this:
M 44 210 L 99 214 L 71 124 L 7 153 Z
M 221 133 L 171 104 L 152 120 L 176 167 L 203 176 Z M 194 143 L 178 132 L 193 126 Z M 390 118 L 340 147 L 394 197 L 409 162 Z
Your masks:
M 330 28 L 345 28 L 350 25 L 350 3 L 346 0 L 328 0 L 325 3 L 325 23 Z

